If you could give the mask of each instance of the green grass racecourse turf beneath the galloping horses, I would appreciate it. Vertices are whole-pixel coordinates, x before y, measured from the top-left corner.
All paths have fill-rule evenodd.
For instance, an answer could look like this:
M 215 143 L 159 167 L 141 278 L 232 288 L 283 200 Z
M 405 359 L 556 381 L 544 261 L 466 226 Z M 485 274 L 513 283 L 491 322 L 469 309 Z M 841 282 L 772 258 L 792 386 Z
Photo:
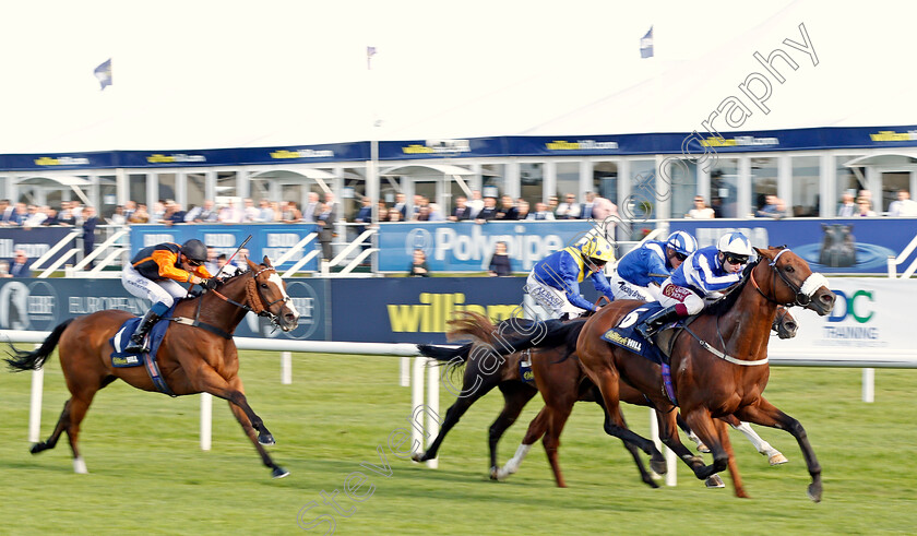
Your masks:
M 793 438 L 758 428 L 790 463 L 767 466 L 733 432 L 750 500 L 705 489 L 681 463 L 678 486 L 643 485 L 620 441 L 602 431 L 600 412 L 577 404 L 562 437 L 559 489 L 540 444 L 507 483 L 487 477 L 487 428 L 502 406 L 495 391 L 453 430 L 429 469 L 377 445 L 406 426 L 410 390 L 398 359 L 294 355 L 294 383 L 279 383 L 277 354 L 243 353 L 249 401 L 277 439 L 270 449 L 290 476 L 272 480 L 224 401 L 214 401 L 213 450 L 199 448 L 199 397 L 169 398 L 116 382 L 96 397 L 81 434 L 90 475 L 72 472 L 66 437 L 33 456 L 26 442 L 31 374 L 0 372 L 0 534 L 296 534 L 297 515 L 334 516 L 336 534 L 880 534 L 917 531 L 917 371 L 877 370 L 876 403 L 860 401 L 860 370 L 775 368 L 766 391 L 809 432 L 823 467 L 824 498 L 806 497 L 809 475 Z M 57 360 L 45 377 L 41 439 L 68 393 Z M 442 412 L 452 403 L 443 391 Z M 540 408 L 536 397 L 501 443 L 515 451 Z M 648 433 L 648 410 L 627 407 Z M 354 472 L 369 476 L 364 502 L 344 498 Z M 349 517 L 322 503 L 341 490 Z M 366 490 L 366 488 L 364 488 Z M 327 525 L 318 525 L 322 534 Z

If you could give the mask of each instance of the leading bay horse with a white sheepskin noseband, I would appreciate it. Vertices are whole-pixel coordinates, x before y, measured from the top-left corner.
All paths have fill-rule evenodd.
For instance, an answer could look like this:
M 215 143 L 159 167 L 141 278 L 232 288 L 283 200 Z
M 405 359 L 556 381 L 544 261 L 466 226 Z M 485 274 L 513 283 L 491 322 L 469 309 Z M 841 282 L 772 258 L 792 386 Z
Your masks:
M 745 277 L 730 295 L 675 335 L 671 388 L 688 426 L 713 453 L 713 464 L 694 471 L 698 478 L 727 467 L 737 478 L 725 422 L 714 420 L 735 415 L 743 421 L 786 430 L 796 438 L 812 478 L 809 498 L 818 502 L 822 495 L 821 466 L 806 430 L 762 393 L 770 378 L 767 340 L 777 306 L 798 305 L 826 315 L 834 307 L 835 296 L 827 288 L 827 279 L 813 274 L 808 263 L 789 249 L 755 248 L 755 251 L 759 260 L 746 267 Z M 609 417 L 605 431 L 653 453 L 656 449 L 652 441 L 629 430 L 623 421 L 618 405 L 620 380 L 640 390 L 657 410 L 671 412 L 676 403 L 664 392 L 658 366 L 647 367 L 646 359 L 635 358 L 602 338 L 639 306 L 616 301 L 604 307 L 583 326 L 576 354 L 605 401 Z M 678 441 L 674 420 L 662 422 L 659 430 L 670 449 L 670 442 Z M 734 481 L 734 486 L 737 497 L 748 497 L 740 480 Z

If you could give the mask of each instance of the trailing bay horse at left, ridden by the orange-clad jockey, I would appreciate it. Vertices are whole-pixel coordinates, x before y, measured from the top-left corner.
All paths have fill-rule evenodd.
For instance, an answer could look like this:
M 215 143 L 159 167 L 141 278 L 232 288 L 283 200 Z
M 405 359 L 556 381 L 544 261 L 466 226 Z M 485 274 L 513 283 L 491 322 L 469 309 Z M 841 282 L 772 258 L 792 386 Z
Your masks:
M 283 478 L 289 473 L 275 464 L 262 446 L 274 444 L 274 437 L 246 400 L 238 376 L 239 357 L 233 332 L 249 311 L 269 317 L 283 331 L 295 330 L 299 312 L 267 257 L 260 265 L 250 260 L 247 262 L 247 272 L 224 279 L 217 289 L 176 305 L 170 319 L 172 324 L 159 345 L 156 361 L 174 395 L 210 393 L 228 401 L 272 476 Z M 66 320 L 34 352 L 19 350 L 11 345 L 11 357 L 5 360 L 14 371 L 43 367 L 59 346 L 63 377 L 71 394 L 53 432 L 47 441 L 32 446 L 33 454 L 53 449 L 66 431 L 73 451 L 74 471 L 87 473 L 78 440 L 80 422 L 96 392 L 118 379 L 143 391 L 157 391 L 146 367 L 116 368 L 111 365 L 109 356 L 114 347 L 109 340 L 130 318 L 131 313 L 127 311 L 98 311 Z

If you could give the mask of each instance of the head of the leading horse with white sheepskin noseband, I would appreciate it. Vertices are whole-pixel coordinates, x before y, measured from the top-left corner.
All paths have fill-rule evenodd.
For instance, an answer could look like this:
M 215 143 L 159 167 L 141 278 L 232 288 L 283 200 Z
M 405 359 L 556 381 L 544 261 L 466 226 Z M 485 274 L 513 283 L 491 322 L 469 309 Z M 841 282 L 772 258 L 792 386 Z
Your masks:
M 834 293 L 827 288 L 827 279 L 813 273 L 809 263 L 789 248 L 754 248 L 761 258 L 754 272 L 770 271 L 770 293 L 765 297 L 781 305 L 795 305 L 811 309 L 824 317 L 834 308 Z M 763 274 L 763 272 L 762 272 Z M 752 273 L 752 277 L 754 273 Z M 779 282 L 779 284 L 777 283 Z M 759 282 L 760 284 L 760 282 Z

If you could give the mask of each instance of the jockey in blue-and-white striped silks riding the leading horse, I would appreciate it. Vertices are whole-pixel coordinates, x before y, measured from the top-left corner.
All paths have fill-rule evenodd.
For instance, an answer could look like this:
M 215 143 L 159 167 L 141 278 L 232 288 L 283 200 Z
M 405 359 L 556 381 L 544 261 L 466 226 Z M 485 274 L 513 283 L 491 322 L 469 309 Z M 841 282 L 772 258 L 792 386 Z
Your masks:
M 705 300 L 718 299 L 720 290 L 741 281 L 751 253 L 751 242 L 741 233 L 729 233 L 719 237 L 715 247 L 699 249 L 663 283 L 659 303 L 666 308 L 636 330 L 648 338 L 668 322 L 701 312 Z

